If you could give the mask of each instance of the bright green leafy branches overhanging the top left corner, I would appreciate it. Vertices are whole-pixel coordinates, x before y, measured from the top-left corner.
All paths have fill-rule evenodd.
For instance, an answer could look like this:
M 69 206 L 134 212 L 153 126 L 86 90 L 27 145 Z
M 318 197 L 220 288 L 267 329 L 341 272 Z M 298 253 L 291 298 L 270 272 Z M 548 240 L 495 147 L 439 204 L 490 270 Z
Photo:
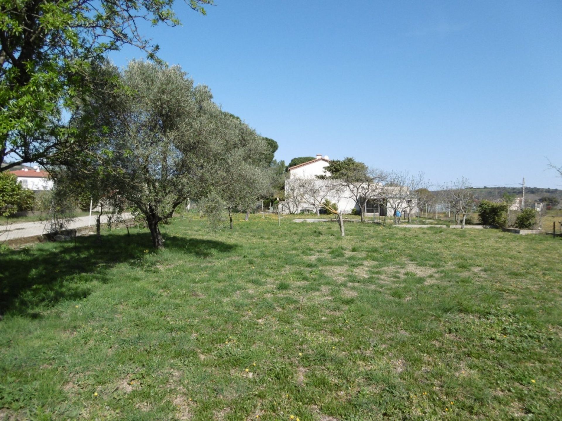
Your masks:
M 157 60 L 140 21 L 178 25 L 174 0 L 0 0 L 0 163 L 64 162 L 79 153 L 72 115 L 92 93 L 90 67 L 134 45 Z M 212 0 L 189 0 L 205 14 Z

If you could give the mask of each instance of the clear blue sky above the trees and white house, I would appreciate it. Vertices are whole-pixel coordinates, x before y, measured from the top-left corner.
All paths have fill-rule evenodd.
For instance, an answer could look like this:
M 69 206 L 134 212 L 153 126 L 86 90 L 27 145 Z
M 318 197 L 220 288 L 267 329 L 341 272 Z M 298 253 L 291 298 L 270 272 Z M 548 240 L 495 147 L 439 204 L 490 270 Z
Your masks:
M 143 27 L 160 57 L 277 140 L 434 184 L 562 188 L 562 2 L 233 1 Z M 111 55 L 123 66 L 142 52 Z

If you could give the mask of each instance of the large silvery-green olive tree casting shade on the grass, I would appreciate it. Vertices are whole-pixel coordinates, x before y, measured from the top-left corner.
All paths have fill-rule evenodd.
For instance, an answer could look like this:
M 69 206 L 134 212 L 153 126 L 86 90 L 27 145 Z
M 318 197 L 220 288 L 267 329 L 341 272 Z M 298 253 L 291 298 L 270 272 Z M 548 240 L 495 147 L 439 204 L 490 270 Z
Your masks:
M 133 61 L 118 77 L 125 89 L 85 103 L 80 121 L 88 135 L 97 128 L 90 156 L 107 172 L 108 188 L 144 216 L 153 246 L 163 248 L 158 224 L 188 198 L 220 193 L 225 168 L 262 162 L 264 141 L 178 66 Z

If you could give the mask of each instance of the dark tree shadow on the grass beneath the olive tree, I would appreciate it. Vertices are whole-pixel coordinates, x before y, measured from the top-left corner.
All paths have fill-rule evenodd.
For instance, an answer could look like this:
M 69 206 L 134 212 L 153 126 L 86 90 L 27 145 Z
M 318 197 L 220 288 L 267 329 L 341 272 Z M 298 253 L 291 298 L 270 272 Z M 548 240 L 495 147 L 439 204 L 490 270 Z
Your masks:
M 221 241 L 171 235 L 165 246 L 200 258 L 237 248 Z M 85 298 L 91 292 L 92 281 L 110 281 L 109 271 L 115 264 L 142 266 L 146 253 L 156 253 L 146 232 L 110 232 L 102 235 L 101 244 L 92 235 L 77 237 L 76 245 L 74 241 L 55 242 L 0 253 L 0 316 L 37 318 L 58 301 Z

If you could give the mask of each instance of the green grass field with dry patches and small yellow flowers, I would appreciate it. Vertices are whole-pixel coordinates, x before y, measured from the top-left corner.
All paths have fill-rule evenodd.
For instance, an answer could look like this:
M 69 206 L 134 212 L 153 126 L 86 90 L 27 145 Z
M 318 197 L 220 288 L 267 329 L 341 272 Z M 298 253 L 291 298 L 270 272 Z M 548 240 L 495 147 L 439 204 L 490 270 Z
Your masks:
M 0 419 L 562 419 L 562 240 L 198 217 L 0 255 Z

